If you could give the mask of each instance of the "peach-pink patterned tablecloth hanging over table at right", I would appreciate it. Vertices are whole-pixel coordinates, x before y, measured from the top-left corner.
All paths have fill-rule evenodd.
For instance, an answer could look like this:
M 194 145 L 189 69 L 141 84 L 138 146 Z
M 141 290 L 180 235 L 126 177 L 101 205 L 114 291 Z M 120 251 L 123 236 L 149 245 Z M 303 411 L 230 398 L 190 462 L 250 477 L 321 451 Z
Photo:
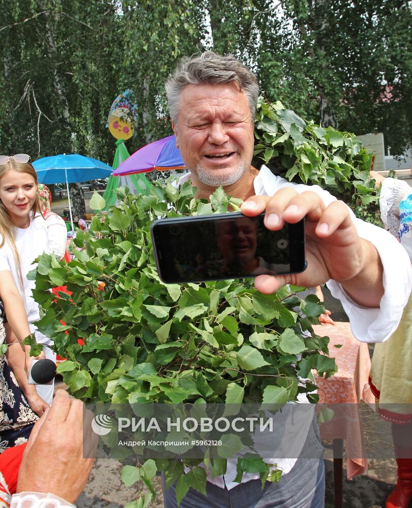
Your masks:
M 361 400 L 375 403 L 368 385 L 368 345 L 352 335 L 350 323 L 316 325 L 313 329 L 318 335 L 330 337 L 329 354 L 335 358 L 338 367 L 337 373 L 328 379 L 315 376 L 320 403 L 339 404 L 332 407 L 333 419 L 321 424 L 321 437 L 345 440 L 347 478 L 352 479 L 368 468 L 358 405 Z

